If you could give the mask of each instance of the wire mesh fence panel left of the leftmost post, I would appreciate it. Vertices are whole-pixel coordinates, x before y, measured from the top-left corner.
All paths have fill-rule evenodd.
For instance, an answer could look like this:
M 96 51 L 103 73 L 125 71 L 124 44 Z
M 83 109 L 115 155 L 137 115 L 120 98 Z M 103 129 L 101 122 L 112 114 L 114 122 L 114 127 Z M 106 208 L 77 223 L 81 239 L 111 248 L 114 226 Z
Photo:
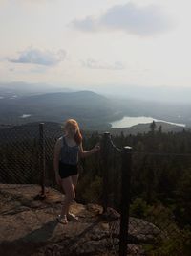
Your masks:
M 38 124 L 0 129 L 0 183 L 38 183 Z

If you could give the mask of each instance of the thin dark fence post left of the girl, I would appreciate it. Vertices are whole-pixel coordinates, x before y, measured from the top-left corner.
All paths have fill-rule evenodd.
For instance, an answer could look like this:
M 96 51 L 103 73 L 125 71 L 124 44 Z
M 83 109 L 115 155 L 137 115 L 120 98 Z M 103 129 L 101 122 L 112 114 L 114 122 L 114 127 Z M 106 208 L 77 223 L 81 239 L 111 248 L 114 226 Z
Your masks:
M 41 173 L 41 196 L 45 197 L 45 138 L 44 123 L 39 124 L 39 169 Z

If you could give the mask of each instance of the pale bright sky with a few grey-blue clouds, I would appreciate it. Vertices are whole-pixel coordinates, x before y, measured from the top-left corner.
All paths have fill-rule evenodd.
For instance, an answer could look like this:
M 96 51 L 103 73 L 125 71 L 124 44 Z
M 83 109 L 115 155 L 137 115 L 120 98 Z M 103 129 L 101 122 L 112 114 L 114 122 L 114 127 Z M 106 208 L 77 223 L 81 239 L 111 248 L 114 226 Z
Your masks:
M 0 0 L 0 81 L 191 87 L 189 0 Z

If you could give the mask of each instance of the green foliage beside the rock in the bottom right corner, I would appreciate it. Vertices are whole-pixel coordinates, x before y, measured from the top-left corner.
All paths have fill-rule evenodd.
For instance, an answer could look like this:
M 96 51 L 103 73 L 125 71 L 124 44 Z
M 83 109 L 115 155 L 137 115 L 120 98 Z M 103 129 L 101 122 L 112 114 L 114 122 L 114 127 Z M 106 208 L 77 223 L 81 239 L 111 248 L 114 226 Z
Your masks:
M 131 213 L 136 217 L 154 223 L 164 236 L 156 244 L 146 244 L 143 248 L 148 256 L 189 256 L 191 251 L 191 230 L 180 229 L 171 209 L 161 203 L 148 205 L 137 198 L 131 205 Z

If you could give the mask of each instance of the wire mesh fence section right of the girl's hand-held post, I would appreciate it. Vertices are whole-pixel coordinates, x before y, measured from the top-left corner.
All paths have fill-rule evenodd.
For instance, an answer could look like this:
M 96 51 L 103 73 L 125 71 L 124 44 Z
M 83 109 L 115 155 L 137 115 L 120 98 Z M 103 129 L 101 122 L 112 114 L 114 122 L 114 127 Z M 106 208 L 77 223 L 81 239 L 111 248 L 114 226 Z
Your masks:
M 126 243 L 128 254 L 185 255 L 184 249 L 186 246 L 190 246 L 191 237 L 190 232 L 186 233 L 180 221 L 177 220 L 175 212 L 180 207 L 180 195 L 177 191 L 177 183 L 175 179 L 173 180 L 172 174 L 170 174 L 172 180 L 170 179 L 169 173 L 174 166 L 176 166 L 176 170 L 173 171 L 175 172 L 174 178 L 181 176 L 183 169 L 189 170 L 191 154 L 130 151 L 132 164 L 123 170 L 121 167 L 122 150 L 115 146 L 110 135 L 109 137 L 110 149 L 107 149 L 107 168 L 109 170 L 107 173 L 109 175 L 107 175 L 104 187 L 106 187 L 105 192 L 108 195 L 107 205 L 119 213 L 115 214 L 113 211 L 114 220 L 110 222 L 115 251 L 119 255 L 126 255 L 124 247 L 122 251 L 120 250 L 121 242 L 118 241 L 118 238 L 121 237 L 121 226 L 125 223 L 124 220 L 121 220 L 124 210 L 121 205 L 124 200 L 121 199 L 124 198 L 125 191 L 121 190 L 121 186 L 126 187 L 126 190 L 130 186 L 130 198 L 126 198 L 126 207 L 130 204 L 128 213 L 130 217 L 126 227 L 128 230 L 128 243 Z M 126 157 L 128 158 L 128 152 Z M 131 184 L 124 183 L 123 172 L 129 173 L 126 181 L 131 179 Z M 111 180 L 116 183 L 113 183 L 110 190 Z M 126 214 L 126 218 L 128 214 Z

